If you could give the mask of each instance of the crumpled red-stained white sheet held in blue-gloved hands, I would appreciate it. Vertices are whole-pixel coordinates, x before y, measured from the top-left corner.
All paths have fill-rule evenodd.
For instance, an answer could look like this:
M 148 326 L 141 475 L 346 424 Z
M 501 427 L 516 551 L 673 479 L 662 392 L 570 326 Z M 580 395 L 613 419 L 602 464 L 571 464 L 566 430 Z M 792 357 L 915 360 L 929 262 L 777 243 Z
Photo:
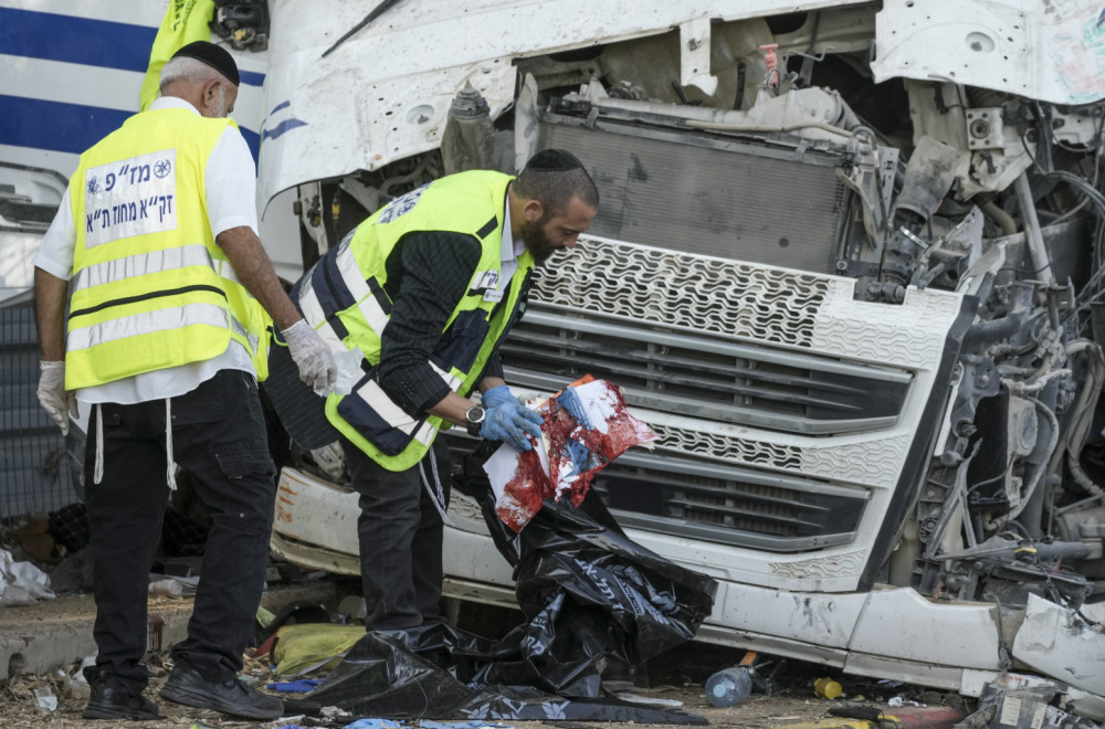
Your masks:
M 594 474 L 634 445 L 656 434 L 630 414 L 618 385 L 587 376 L 536 405 L 545 422 L 541 442 L 518 453 L 503 445 L 484 464 L 495 493 L 495 510 L 515 531 L 541 508 L 541 501 L 568 496 L 579 506 Z M 530 441 L 534 442 L 534 441 Z

